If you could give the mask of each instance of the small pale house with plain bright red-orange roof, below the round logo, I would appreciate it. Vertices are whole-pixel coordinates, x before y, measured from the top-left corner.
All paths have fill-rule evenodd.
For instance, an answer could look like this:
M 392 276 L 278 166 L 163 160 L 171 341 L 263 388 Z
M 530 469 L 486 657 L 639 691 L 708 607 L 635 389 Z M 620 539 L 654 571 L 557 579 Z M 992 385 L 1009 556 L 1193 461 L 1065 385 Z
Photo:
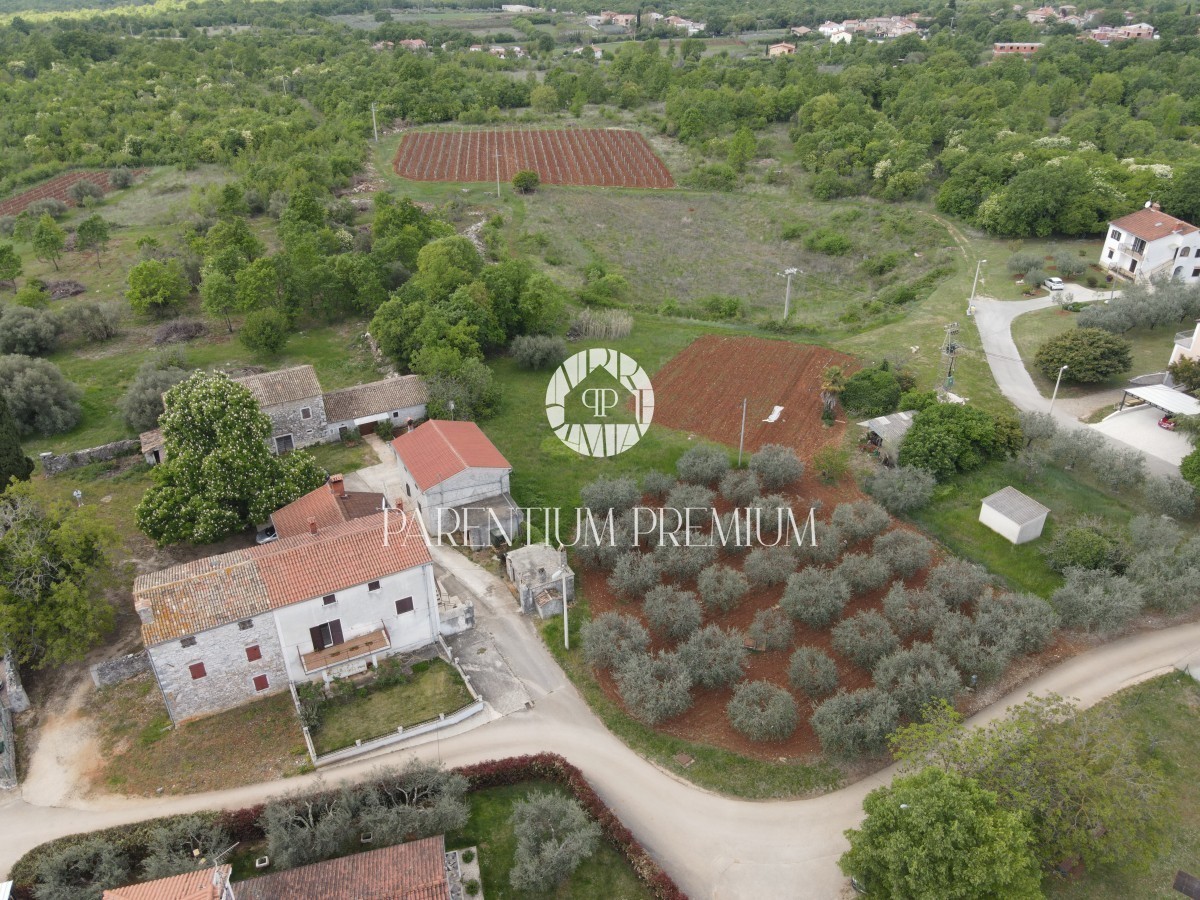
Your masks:
M 521 526 L 512 467 L 475 422 L 431 419 L 391 442 L 404 496 L 430 534 L 461 535 L 472 547 L 511 538 Z

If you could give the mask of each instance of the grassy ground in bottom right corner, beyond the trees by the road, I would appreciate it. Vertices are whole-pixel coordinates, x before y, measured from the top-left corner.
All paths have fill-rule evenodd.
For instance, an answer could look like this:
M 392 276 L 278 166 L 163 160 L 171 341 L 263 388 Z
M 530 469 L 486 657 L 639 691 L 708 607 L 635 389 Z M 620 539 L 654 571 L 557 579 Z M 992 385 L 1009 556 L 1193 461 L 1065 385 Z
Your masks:
M 1168 780 L 1172 821 L 1168 850 L 1146 871 L 1116 869 L 1086 872 L 1067 883 L 1048 877 L 1046 894 L 1062 900 L 1171 900 L 1180 869 L 1200 874 L 1200 685 L 1182 673 L 1165 674 L 1127 688 L 1104 701 L 1115 706 L 1127 727 L 1144 740 L 1146 754 L 1156 760 Z

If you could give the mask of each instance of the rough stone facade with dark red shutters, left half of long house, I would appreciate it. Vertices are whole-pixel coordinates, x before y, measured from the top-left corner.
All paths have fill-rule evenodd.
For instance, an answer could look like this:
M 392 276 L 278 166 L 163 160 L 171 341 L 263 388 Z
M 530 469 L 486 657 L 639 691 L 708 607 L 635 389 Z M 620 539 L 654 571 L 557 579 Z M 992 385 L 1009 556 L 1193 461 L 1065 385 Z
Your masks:
M 179 722 L 248 703 L 259 696 L 287 690 L 288 674 L 278 634 L 270 613 L 253 619 L 244 629 L 236 622 L 198 635 L 184 647 L 176 638 L 150 648 L 155 676 L 172 720 Z M 257 646 L 258 660 L 250 660 L 247 648 Z M 204 664 L 204 676 L 192 678 L 191 666 Z M 265 690 L 254 688 L 254 677 L 265 674 Z

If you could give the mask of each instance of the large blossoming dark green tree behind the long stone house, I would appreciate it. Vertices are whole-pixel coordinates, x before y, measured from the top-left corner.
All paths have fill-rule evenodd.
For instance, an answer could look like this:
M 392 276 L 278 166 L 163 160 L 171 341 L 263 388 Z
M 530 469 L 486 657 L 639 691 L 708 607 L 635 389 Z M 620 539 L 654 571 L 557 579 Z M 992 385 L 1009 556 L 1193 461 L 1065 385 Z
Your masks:
M 136 511 L 138 528 L 160 545 L 211 544 L 265 522 L 325 479 L 302 450 L 270 452 L 271 420 L 224 374 L 197 372 L 163 402 L 167 460 Z

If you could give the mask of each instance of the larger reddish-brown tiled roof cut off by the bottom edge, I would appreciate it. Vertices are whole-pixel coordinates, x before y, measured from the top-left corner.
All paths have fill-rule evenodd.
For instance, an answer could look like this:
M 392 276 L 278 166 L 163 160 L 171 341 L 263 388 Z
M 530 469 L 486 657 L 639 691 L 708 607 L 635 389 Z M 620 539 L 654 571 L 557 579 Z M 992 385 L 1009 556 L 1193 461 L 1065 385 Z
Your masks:
M 449 900 L 442 835 L 238 883 L 238 900 Z

